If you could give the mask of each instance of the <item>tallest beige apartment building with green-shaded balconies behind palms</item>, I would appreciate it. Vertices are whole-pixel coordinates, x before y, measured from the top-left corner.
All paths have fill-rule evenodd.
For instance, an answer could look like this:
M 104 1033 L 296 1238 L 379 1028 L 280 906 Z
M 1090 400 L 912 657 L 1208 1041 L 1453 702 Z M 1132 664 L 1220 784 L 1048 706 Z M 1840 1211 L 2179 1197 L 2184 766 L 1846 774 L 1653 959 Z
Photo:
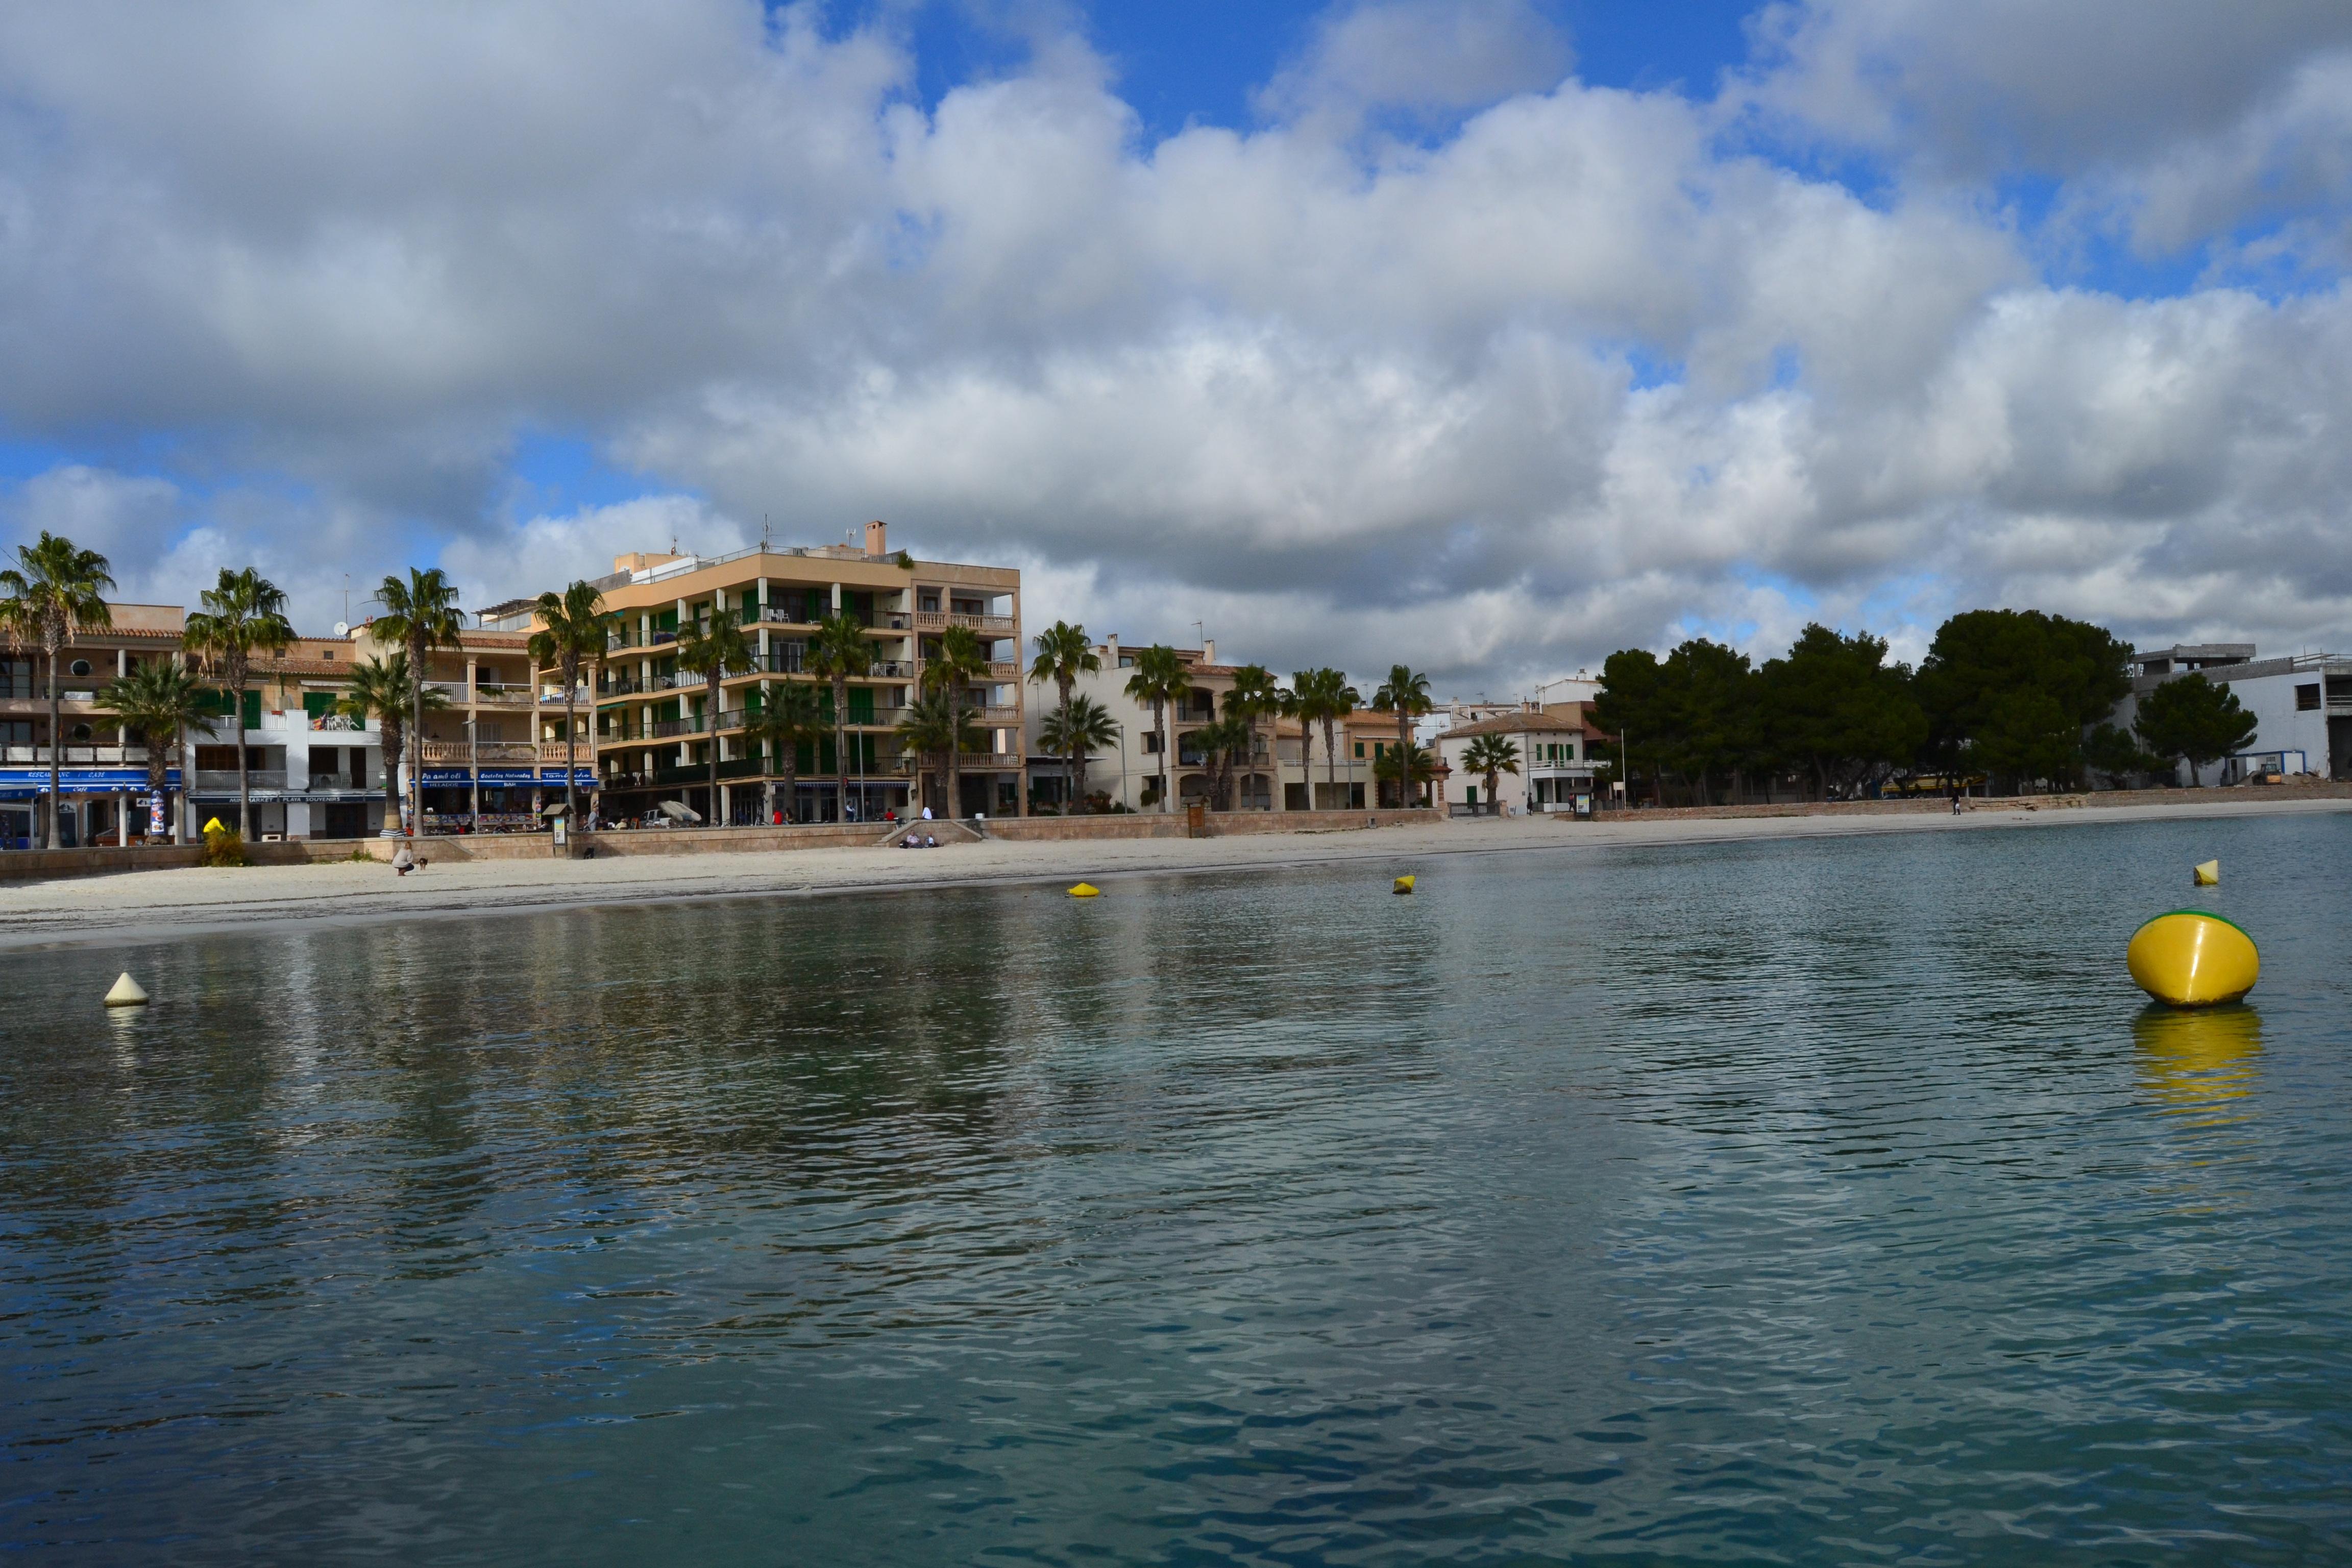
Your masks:
M 927 562 L 889 550 L 884 524 L 866 524 L 863 545 L 739 550 L 734 555 L 623 555 L 595 583 L 604 597 L 609 637 L 583 712 L 593 745 L 595 809 L 604 820 L 647 818 L 663 802 L 680 802 L 703 820 L 753 823 L 776 776 L 776 757 L 743 736 L 743 722 L 764 708 L 781 682 L 811 682 L 828 722 L 833 684 L 809 668 L 809 639 L 826 616 L 847 614 L 866 628 L 870 668 L 847 689 L 847 755 L 833 736 L 807 743 L 795 757 L 797 823 L 880 820 L 908 816 L 924 799 L 920 759 L 903 755 L 896 724 L 922 689 L 950 625 L 971 628 L 988 656 L 985 672 L 964 686 L 985 750 L 957 757 L 962 799 L 955 816 L 1018 816 L 1025 811 L 1021 736 L 1021 571 Z M 701 675 L 677 668 L 684 628 L 710 628 L 715 609 L 739 616 L 753 668 L 720 686 L 720 710 L 708 710 Z M 555 682 L 539 672 L 541 693 Z M 557 693 L 560 698 L 560 693 Z M 560 741 L 562 712 L 539 703 L 541 743 Z M 593 726 L 593 729 L 590 729 Z M 720 788 L 710 799 L 710 759 Z

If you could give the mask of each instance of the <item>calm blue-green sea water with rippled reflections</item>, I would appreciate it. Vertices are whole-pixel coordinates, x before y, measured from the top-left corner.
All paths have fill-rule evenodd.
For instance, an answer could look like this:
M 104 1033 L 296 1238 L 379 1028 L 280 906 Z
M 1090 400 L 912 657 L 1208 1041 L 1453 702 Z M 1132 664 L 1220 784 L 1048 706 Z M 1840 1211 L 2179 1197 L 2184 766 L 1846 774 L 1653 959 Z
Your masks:
M 2263 985 L 2147 1013 L 2206 856 Z M 2347 1561 L 2347 870 L 2333 816 L 0 954 L 0 1544 Z

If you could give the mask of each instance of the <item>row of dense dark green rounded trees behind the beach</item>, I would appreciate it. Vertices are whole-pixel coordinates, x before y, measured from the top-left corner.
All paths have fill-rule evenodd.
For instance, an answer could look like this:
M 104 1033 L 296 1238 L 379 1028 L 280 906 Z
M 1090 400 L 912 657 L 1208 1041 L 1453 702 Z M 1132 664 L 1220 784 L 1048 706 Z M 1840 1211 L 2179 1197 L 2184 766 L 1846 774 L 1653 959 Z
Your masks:
M 1886 788 L 1987 792 L 2086 788 L 2204 766 L 2256 731 L 2227 686 L 2185 675 L 2157 686 L 2129 729 L 2129 642 L 2089 621 L 1973 609 L 1936 630 L 1912 670 L 1867 630 L 1806 625 L 1762 665 L 1705 637 L 1665 658 L 1621 649 L 1602 665 L 1595 748 L 1656 804 Z

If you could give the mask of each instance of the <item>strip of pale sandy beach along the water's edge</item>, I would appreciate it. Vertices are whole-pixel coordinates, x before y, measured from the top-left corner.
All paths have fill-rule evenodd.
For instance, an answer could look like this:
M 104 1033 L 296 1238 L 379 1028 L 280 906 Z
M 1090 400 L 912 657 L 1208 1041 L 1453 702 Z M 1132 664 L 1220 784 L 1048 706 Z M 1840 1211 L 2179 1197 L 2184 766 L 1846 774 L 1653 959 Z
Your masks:
M 2122 797 L 2112 806 L 1562 818 L 1439 818 L 1432 823 L 1209 839 L 988 839 L 924 851 L 797 849 L 597 860 L 449 860 L 395 877 L 376 860 L 318 860 L 245 870 L 151 870 L 122 877 L 0 884 L 0 950 L 127 947 L 254 929 L 355 926 L 400 919 L 562 912 L 706 898 L 828 898 L 967 886 L 1115 891 L 1138 877 L 1301 870 L 1364 860 L 1406 863 L 1479 853 L 1672 849 L 1762 839 L 1842 839 L 1893 832 L 1999 832 L 2180 818 L 2343 816 L 2352 797 L 2213 802 Z

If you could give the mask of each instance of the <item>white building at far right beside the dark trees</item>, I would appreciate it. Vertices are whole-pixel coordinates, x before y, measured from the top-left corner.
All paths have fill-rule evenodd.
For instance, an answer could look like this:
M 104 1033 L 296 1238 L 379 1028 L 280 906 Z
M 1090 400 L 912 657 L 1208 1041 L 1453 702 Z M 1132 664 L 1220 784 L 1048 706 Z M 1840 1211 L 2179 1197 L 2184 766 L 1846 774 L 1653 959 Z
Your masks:
M 2114 724 L 2131 726 L 2140 698 L 2169 679 L 2204 675 L 2227 686 L 2253 715 L 2253 743 L 2197 778 L 2183 764 L 2178 783 L 2241 783 L 2253 773 L 2352 778 L 2352 658 L 2293 654 L 2258 658 L 2251 642 L 2150 649 L 2131 663 L 2131 696 Z

